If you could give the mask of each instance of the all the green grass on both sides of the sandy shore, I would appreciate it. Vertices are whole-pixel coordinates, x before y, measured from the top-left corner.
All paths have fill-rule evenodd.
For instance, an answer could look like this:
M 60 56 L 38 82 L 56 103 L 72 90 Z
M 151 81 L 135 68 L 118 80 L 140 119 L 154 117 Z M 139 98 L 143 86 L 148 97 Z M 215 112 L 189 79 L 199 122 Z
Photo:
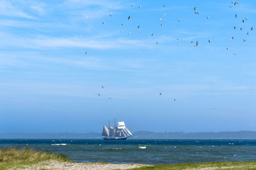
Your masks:
M 65 155 L 55 154 L 47 151 L 33 150 L 30 148 L 4 148 L 0 150 L 0 169 L 22 169 L 46 160 L 57 160 L 59 162 L 70 162 Z M 96 162 L 95 162 L 96 163 Z M 92 163 L 89 163 L 92 164 Z M 99 162 L 97 164 L 107 164 Z M 133 170 L 169 170 L 169 169 L 256 169 L 256 161 L 253 162 L 212 162 L 198 164 L 172 164 L 159 166 L 144 166 Z M 41 169 L 43 170 L 43 169 Z

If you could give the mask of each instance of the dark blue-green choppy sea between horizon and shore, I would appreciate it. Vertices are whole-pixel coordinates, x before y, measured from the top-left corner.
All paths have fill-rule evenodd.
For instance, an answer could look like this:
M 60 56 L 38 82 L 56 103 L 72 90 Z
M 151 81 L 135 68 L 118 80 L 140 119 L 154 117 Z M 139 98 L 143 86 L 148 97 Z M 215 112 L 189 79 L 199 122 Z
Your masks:
M 0 139 L 0 148 L 62 153 L 74 162 L 180 164 L 256 160 L 256 139 Z

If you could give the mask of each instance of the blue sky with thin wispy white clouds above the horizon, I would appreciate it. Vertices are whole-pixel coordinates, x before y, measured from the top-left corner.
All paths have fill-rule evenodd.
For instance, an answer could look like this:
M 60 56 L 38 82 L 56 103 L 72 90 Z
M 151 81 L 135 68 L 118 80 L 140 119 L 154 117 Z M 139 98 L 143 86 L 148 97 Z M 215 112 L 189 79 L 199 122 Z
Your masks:
M 1 0 L 0 132 L 256 131 L 254 6 Z

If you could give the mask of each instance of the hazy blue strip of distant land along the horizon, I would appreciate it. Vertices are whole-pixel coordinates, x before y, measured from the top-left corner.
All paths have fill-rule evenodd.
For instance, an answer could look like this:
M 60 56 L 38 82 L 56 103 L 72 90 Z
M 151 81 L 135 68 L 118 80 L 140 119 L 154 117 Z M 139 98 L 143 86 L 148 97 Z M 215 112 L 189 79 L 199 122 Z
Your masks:
M 256 139 L 256 131 L 132 133 L 131 139 Z M 101 139 L 101 133 L 0 133 L 0 139 Z

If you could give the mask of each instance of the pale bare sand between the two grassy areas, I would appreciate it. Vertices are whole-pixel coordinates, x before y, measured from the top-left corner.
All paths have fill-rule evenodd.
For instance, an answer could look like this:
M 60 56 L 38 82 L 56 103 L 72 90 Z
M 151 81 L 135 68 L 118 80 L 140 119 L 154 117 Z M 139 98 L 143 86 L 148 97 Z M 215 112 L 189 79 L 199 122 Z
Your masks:
M 108 164 L 108 163 L 76 163 L 76 162 L 60 162 L 56 160 L 48 160 L 38 164 L 17 167 L 17 169 L 61 169 L 61 170 L 81 170 L 81 169 L 132 169 L 136 167 L 148 166 L 143 164 Z

